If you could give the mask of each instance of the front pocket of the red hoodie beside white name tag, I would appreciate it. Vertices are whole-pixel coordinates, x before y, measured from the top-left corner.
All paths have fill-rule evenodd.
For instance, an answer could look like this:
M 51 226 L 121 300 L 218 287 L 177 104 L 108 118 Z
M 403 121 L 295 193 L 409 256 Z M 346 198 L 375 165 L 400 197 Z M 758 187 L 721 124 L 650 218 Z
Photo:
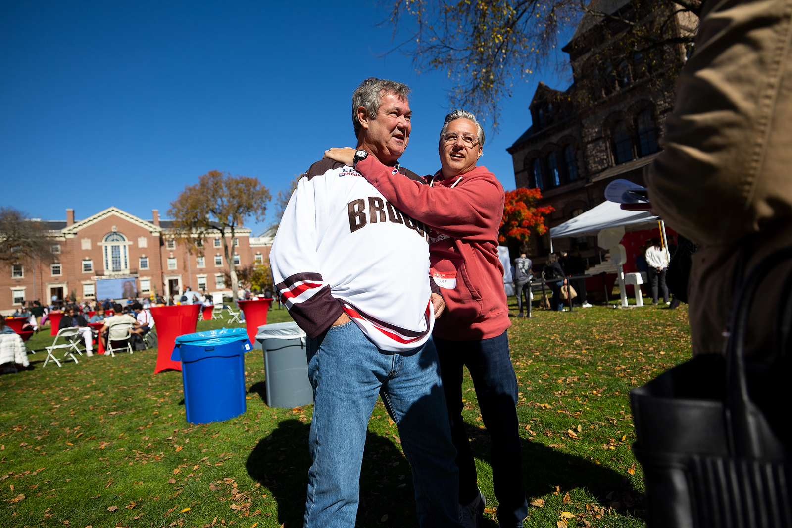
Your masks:
M 440 287 L 449 315 L 470 321 L 482 316 L 482 297 L 470 282 L 462 258 L 444 258 L 432 263 L 429 270 Z

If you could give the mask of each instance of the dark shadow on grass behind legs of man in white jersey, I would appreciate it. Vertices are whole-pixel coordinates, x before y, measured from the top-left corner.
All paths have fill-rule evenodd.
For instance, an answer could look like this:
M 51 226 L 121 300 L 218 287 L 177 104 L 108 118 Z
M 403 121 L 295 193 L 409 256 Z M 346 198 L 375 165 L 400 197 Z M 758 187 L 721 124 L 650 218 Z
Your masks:
M 309 429 L 309 423 L 284 420 L 261 438 L 245 464 L 249 476 L 272 492 L 278 504 L 278 522 L 287 527 L 303 526 L 310 468 Z M 356 526 L 379 526 L 383 515 L 388 515 L 391 526 L 418 524 L 406 457 L 394 442 L 369 432 L 360 473 Z

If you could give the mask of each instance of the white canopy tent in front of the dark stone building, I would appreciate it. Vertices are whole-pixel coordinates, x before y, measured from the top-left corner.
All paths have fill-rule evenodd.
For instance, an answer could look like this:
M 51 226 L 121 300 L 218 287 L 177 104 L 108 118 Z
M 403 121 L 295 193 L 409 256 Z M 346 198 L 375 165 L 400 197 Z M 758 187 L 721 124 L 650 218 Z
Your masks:
M 550 251 L 553 251 L 553 239 L 568 236 L 596 236 L 597 246 L 610 249 L 611 261 L 619 266 L 618 279 L 622 306 L 627 306 L 622 267 L 626 262 L 623 262 L 625 258 L 624 247 L 619 242 L 621 242 L 626 231 L 650 229 L 656 227 L 658 223 L 661 228 L 663 245 L 668 247 L 665 237 L 665 226 L 659 216 L 653 216 L 649 211 L 625 211 L 621 209 L 621 204 L 614 201 L 604 201 L 583 214 L 575 216 L 572 220 L 567 220 L 561 225 L 550 228 Z

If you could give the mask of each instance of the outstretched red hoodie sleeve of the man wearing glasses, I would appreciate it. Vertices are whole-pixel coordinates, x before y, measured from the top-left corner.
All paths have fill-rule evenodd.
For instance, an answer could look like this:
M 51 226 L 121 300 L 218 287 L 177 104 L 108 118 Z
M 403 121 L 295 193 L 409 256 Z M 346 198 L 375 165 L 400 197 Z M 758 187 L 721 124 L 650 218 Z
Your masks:
M 501 225 L 503 187 L 483 167 L 461 176 L 455 187 L 414 182 L 402 174 L 394 174 L 393 167 L 383 165 L 375 156 L 357 163 L 355 170 L 402 212 L 446 235 L 489 242 L 493 231 L 497 232 Z M 489 174 L 490 178 L 468 178 L 477 171 Z

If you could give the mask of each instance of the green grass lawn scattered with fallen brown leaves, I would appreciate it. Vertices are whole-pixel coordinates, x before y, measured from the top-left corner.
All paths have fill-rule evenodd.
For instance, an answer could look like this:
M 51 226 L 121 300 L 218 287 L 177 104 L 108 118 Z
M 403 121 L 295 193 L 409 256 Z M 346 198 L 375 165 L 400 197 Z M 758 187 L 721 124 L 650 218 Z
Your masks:
M 535 504 L 525 526 L 562 526 L 563 512 L 568 526 L 644 526 L 627 392 L 688 357 L 686 306 L 534 316 L 509 330 Z M 41 332 L 29 346 L 51 340 Z M 247 411 L 197 426 L 185 422 L 181 373 L 155 375 L 154 350 L 62 368 L 29 358 L 0 376 L 2 526 L 302 526 L 312 407 L 265 405 L 260 351 L 246 355 Z M 492 527 L 489 438 L 472 386 L 467 377 L 465 417 Z M 359 526 L 417 526 L 409 464 L 381 402 L 368 430 Z

